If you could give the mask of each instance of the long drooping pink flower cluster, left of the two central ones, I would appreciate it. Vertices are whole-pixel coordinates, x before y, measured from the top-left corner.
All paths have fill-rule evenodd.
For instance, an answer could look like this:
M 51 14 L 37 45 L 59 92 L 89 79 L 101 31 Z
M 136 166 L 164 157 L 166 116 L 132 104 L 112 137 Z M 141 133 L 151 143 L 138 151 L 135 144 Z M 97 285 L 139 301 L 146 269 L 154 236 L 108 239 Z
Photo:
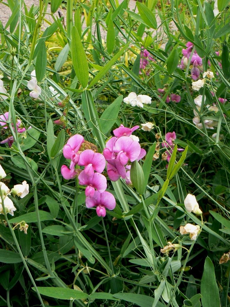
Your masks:
M 107 179 L 102 175 L 105 169 L 104 156 L 94 150 L 86 149 L 86 145 L 86 141 L 80 134 L 75 134 L 68 139 L 63 148 L 63 155 L 66 159 L 71 160 L 70 168 L 62 165 L 61 173 L 67 180 L 78 176 L 79 184 L 86 185 L 86 207 L 96 206 L 97 215 L 104 217 L 105 208 L 113 210 L 116 201 L 110 192 L 105 191 Z M 81 170 L 80 166 L 83 166 L 84 169 Z

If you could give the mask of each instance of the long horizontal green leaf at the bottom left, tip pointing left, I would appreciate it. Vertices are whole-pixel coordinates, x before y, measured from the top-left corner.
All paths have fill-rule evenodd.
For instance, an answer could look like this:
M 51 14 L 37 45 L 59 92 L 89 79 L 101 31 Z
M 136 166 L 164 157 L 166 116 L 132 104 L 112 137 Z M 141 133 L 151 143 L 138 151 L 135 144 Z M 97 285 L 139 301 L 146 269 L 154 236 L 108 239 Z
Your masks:
M 35 288 L 32 288 L 34 291 Z M 88 297 L 87 293 L 69 289 L 69 288 L 58 288 L 58 287 L 37 287 L 38 291 L 42 295 L 48 297 L 59 298 L 61 300 L 70 300 L 70 299 L 86 299 Z

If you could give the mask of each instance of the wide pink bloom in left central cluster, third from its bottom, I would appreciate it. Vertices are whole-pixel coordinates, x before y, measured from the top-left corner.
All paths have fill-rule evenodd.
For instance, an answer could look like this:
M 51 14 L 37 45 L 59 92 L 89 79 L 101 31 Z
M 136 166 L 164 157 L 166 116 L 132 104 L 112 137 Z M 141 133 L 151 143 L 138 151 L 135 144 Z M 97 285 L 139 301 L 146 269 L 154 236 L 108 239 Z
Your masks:
M 80 154 L 78 165 L 85 166 L 84 172 L 92 176 L 94 170 L 102 173 L 105 168 L 105 157 L 101 153 L 95 153 L 91 149 L 86 149 Z

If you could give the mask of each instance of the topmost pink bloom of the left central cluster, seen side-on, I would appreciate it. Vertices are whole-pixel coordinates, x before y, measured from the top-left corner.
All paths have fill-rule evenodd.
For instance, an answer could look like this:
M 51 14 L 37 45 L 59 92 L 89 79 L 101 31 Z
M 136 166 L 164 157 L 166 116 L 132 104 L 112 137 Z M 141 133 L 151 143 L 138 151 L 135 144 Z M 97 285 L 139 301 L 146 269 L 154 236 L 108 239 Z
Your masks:
M 80 134 L 75 134 L 68 139 L 66 145 L 63 147 L 63 155 L 66 159 L 70 159 L 72 164 L 76 165 L 79 160 L 80 153 L 78 152 L 84 138 Z M 72 165 L 71 165 L 72 168 Z

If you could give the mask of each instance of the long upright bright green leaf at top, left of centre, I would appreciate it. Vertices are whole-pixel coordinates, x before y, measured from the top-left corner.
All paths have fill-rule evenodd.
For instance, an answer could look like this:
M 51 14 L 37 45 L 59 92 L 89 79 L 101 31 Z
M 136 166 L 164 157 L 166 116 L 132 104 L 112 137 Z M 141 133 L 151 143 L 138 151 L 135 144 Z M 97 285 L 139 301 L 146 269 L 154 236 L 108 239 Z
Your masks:
M 88 61 L 75 26 L 72 28 L 71 55 L 76 76 L 82 87 L 86 88 L 89 81 Z

